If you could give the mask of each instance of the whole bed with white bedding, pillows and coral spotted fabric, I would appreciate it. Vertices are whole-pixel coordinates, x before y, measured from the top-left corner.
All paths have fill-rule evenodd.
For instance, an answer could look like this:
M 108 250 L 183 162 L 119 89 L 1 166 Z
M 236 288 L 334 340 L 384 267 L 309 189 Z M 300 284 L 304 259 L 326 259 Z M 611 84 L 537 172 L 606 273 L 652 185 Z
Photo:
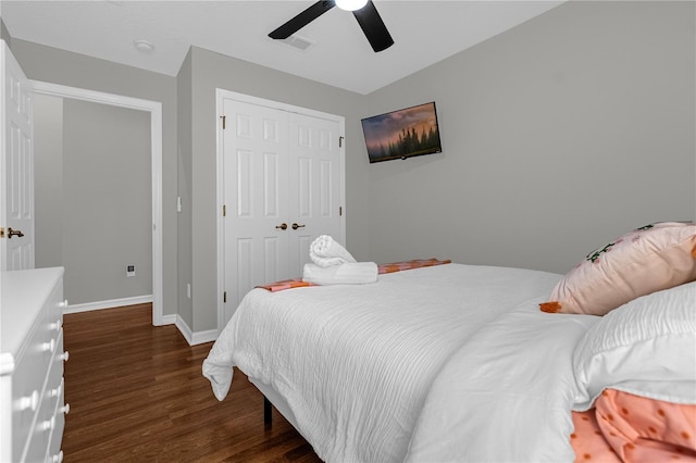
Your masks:
M 373 284 L 256 288 L 203 375 L 223 400 L 238 367 L 327 462 L 696 459 L 696 225 L 673 227 L 691 259 L 681 279 L 601 315 L 564 313 L 582 265 L 433 261 Z M 631 234 L 652 245 L 655 232 Z M 629 235 L 612 259 L 635 254 Z M 635 423 L 633 406 L 660 422 Z

